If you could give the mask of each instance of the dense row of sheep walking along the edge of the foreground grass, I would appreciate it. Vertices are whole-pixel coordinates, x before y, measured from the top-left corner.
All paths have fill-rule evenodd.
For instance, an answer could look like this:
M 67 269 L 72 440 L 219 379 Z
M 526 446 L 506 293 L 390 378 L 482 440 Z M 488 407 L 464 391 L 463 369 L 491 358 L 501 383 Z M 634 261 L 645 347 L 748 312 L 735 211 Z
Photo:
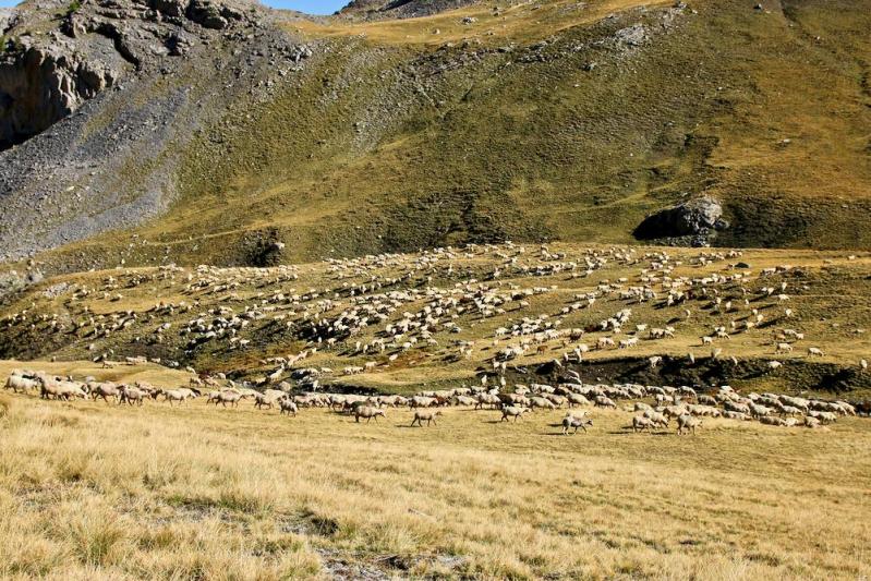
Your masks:
M 74 399 L 112 400 L 118 404 L 142 406 L 146 399 L 183 404 L 187 400 L 204 397 L 216 407 L 238 408 L 240 401 L 250 399 L 254 408 L 270 410 L 278 408 L 280 414 L 295 416 L 300 408 L 327 408 L 354 417 L 355 422 L 386 416 L 388 408 L 409 408 L 413 412 L 411 425 L 436 424 L 436 419 L 446 408 L 463 407 L 473 410 L 493 409 L 500 412 L 499 422 L 522 419 L 535 410 L 553 411 L 566 409 L 561 420 L 562 434 L 577 433 L 593 425 L 591 408 L 618 409 L 615 400 L 634 400 L 632 407 L 624 407 L 634 415 L 631 427 L 634 432 L 668 428 L 676 422 L 677 433 L 695 434 L 704 417 L 723 417 L 749 422 L 758 421 L 773 426 L 806 426 L 810 428 L 830 424 L 843 415 L 856 415 L 854 406 L 846 401 L 825 401 L 777 394 L 740 395 L 728 386 L 712 394 L 698 394 L 688 386 L 584 385 L 578 375 L 570 372 L 556 386 L 545 384 L 515 385 L 509 390 L 484 387 L 461 387 L 451 390 L 424 391 L 415 396 L 397 395 L 361 396 L 322 392 L 292 395 L 283 390 L 256 391 L 251 388 L 225 387 L 204 392 L 202 382 L 193 379 L 193 387 L 165 389 L 145 383 L 118 385 L 97 382 L 93 377 L 76 382 L 71 377 L 48 375 L 44 372 L 13 371 L 5 387 L 16 392 L 38 391 L 44 399 L 70 401 Z M 209 378 L 208 383 L 218 386 Z M 643 400 L 651 400 L 645 402 Z

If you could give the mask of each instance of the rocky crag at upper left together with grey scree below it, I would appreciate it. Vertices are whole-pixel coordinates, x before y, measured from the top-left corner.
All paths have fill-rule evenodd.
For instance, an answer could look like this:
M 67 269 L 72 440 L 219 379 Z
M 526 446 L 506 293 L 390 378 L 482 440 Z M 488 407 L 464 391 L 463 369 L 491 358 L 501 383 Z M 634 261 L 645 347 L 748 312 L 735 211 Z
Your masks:
M 268 98 L 313 55 L 274 19 L 244 0 L 41 0 L 4 12 L 0 262 L 166 210 L 196 132 Z

